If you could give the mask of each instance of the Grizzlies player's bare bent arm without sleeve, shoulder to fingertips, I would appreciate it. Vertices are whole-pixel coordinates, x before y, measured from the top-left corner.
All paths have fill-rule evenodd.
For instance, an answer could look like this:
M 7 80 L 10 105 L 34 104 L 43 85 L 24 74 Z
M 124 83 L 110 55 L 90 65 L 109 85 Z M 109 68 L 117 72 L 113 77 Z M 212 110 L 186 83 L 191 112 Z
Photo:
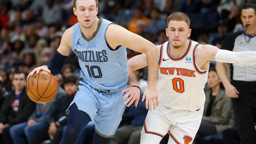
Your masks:
M 146 108 L 151 110 L 153 103 L 154 109 L 157 101 L 158 105 L 158 58 L 157 49 L 154 44 L 136 35 L 125 28 L 110 24 L 106 30 L 105 38 L 112 48 L 119 45 L 127 47 L 137 52 L 146 54 L 146 61 L 148 64 L 148 88 L 144 92 L 146 94 Z

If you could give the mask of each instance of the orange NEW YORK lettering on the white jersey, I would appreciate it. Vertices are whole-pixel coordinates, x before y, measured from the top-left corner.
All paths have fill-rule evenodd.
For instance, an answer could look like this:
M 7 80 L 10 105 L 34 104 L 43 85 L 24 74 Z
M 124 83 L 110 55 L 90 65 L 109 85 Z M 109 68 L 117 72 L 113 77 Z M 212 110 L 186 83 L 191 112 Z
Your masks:
M 161 74 L 164 75 L 173 75 L 174 72 L 177 72 L 177 75 L 195 77 L 195 71 L 190 69 L 176 68 L 176 67 L 159 67 Z

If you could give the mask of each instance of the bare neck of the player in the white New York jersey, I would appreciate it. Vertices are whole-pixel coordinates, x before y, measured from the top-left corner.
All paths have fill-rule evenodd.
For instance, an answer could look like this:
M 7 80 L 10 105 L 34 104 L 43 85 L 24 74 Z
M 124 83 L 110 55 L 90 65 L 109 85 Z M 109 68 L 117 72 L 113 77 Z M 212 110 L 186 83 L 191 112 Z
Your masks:
M 179 48 L 174 48 L 171 44 L 169 45 L 169 55 L 172 58 L 181 58 L 187 51 L 189 46 L 189 41 L 186 41 L 185 44 L 183 44 Z

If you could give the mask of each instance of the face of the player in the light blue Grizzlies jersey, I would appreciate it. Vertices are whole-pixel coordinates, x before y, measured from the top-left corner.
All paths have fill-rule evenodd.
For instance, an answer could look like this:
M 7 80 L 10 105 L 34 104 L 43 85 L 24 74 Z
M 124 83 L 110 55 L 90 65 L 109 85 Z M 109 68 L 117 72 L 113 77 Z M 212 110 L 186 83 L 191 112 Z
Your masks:
M 84 28 L 92 27 L 97 21 L 98 7 L 95 0 L 77 0 L 73 11 Z

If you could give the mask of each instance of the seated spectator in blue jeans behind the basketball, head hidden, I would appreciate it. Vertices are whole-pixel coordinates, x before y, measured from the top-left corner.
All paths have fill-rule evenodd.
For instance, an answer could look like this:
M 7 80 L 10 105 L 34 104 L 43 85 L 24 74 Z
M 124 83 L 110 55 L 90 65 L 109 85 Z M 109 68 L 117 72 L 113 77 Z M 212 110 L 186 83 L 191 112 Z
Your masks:
M 10 128 L 10 135 L 14 143 L 25 144 L 24 136 L 29 143 L 41 144 L 50 139 L 48 130 L 52 123 L 66 115 L 67 93 L 58 86 L 57 95 L 48 103 L 37 103 L 36 109 L 27 122 L 14 125 Z

